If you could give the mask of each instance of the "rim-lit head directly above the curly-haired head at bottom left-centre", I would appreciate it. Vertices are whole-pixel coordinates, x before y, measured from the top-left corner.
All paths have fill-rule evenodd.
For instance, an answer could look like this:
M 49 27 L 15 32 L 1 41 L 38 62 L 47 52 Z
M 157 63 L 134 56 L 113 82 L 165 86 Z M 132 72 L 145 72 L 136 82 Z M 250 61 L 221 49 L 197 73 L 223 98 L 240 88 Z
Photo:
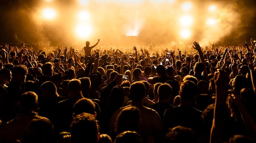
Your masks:
M 88 98 L 81 98 L 76 101 L 73 108 L 74 115 L 76 116 L 83 112 L 94 115 L 95 104 L 92 102 L 92 100 Z

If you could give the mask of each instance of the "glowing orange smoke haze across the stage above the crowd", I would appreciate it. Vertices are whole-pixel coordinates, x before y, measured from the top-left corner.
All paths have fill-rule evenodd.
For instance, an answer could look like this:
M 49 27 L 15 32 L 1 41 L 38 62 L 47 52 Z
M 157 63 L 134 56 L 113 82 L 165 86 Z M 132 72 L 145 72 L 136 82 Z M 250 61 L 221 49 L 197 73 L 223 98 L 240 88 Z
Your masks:
M 22 21 L 23 29 L 27 28 L 26 36 L 32 37 L 31 39 L 36 37 L 34 39 L 38 40 L 34 43 L 51 41 L 57 45 L 76 44 L 83 47 L 85 41 L 96 43 L 97 39 L 101 39 L 100 44 L 106 46 L 152 44 L 171 47 L 179 45 L 180 42 L 190 45 L 193 41 L 206 46 L 209 41 L 218 43 L 241 23 L 241 14 L 234 2 L 193 1 L 192 8 L 186 9 L 187 11 L 181 8 L 183 2 L 177 0 L 91 0 L 85 5 L 78 1 L 66 4 L 60 1 L 35 2 L 35 6 L 25 6 L 27 12 L 23 15 L 28 17 L 29 22 Z M 216 11 L 209 12 L 208 8 L 212 4 L 216 6 Z M 42 16 L 42 10 L 49 7 L 57 12 L 53 20 L 46 20 Z M 89 19 L 78 20 L 80 11 L 87 11 L 90 14 Z M 192 17 L 192 20 L 185 20 L 187 24 L 180 22 L 184 15 Z M 79 37 L 78 25 L 88 25 L 90 35 Z M 85 32 L 87 28 L 83 28 Z M 183 30 L 189 31 L 188 38 L 180 35 Z M 15 37 L 19 42 L 23 41 L 20 34 Z

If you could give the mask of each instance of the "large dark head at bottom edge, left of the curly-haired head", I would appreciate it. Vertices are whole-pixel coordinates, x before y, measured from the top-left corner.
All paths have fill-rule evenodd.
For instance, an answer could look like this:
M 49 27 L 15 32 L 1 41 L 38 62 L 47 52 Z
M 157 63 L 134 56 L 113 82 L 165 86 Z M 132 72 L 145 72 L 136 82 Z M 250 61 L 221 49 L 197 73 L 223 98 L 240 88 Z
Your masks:
M 46 118 L 33 119 L 25 130 L 21 143 L 53 143 L 54 127 Z

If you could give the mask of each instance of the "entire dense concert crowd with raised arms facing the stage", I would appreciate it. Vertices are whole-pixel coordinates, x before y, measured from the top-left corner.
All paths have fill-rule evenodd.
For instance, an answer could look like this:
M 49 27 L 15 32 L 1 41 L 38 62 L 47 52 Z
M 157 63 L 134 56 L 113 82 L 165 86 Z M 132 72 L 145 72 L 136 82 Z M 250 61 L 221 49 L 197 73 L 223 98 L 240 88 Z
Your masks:
M 0 143 L 256 142 L 254 45 L 99 41 L 0 46 Z

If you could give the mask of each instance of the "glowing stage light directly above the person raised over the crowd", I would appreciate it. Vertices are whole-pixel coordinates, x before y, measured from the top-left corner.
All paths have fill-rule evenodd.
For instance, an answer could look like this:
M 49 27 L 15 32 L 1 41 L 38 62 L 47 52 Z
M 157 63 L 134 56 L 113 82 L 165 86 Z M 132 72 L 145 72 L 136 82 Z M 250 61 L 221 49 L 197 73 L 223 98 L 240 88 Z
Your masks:
M 78 38 L 88 38 L 92 34 L 92 27 L 89 24 L 79 24 L 75 32 Z

